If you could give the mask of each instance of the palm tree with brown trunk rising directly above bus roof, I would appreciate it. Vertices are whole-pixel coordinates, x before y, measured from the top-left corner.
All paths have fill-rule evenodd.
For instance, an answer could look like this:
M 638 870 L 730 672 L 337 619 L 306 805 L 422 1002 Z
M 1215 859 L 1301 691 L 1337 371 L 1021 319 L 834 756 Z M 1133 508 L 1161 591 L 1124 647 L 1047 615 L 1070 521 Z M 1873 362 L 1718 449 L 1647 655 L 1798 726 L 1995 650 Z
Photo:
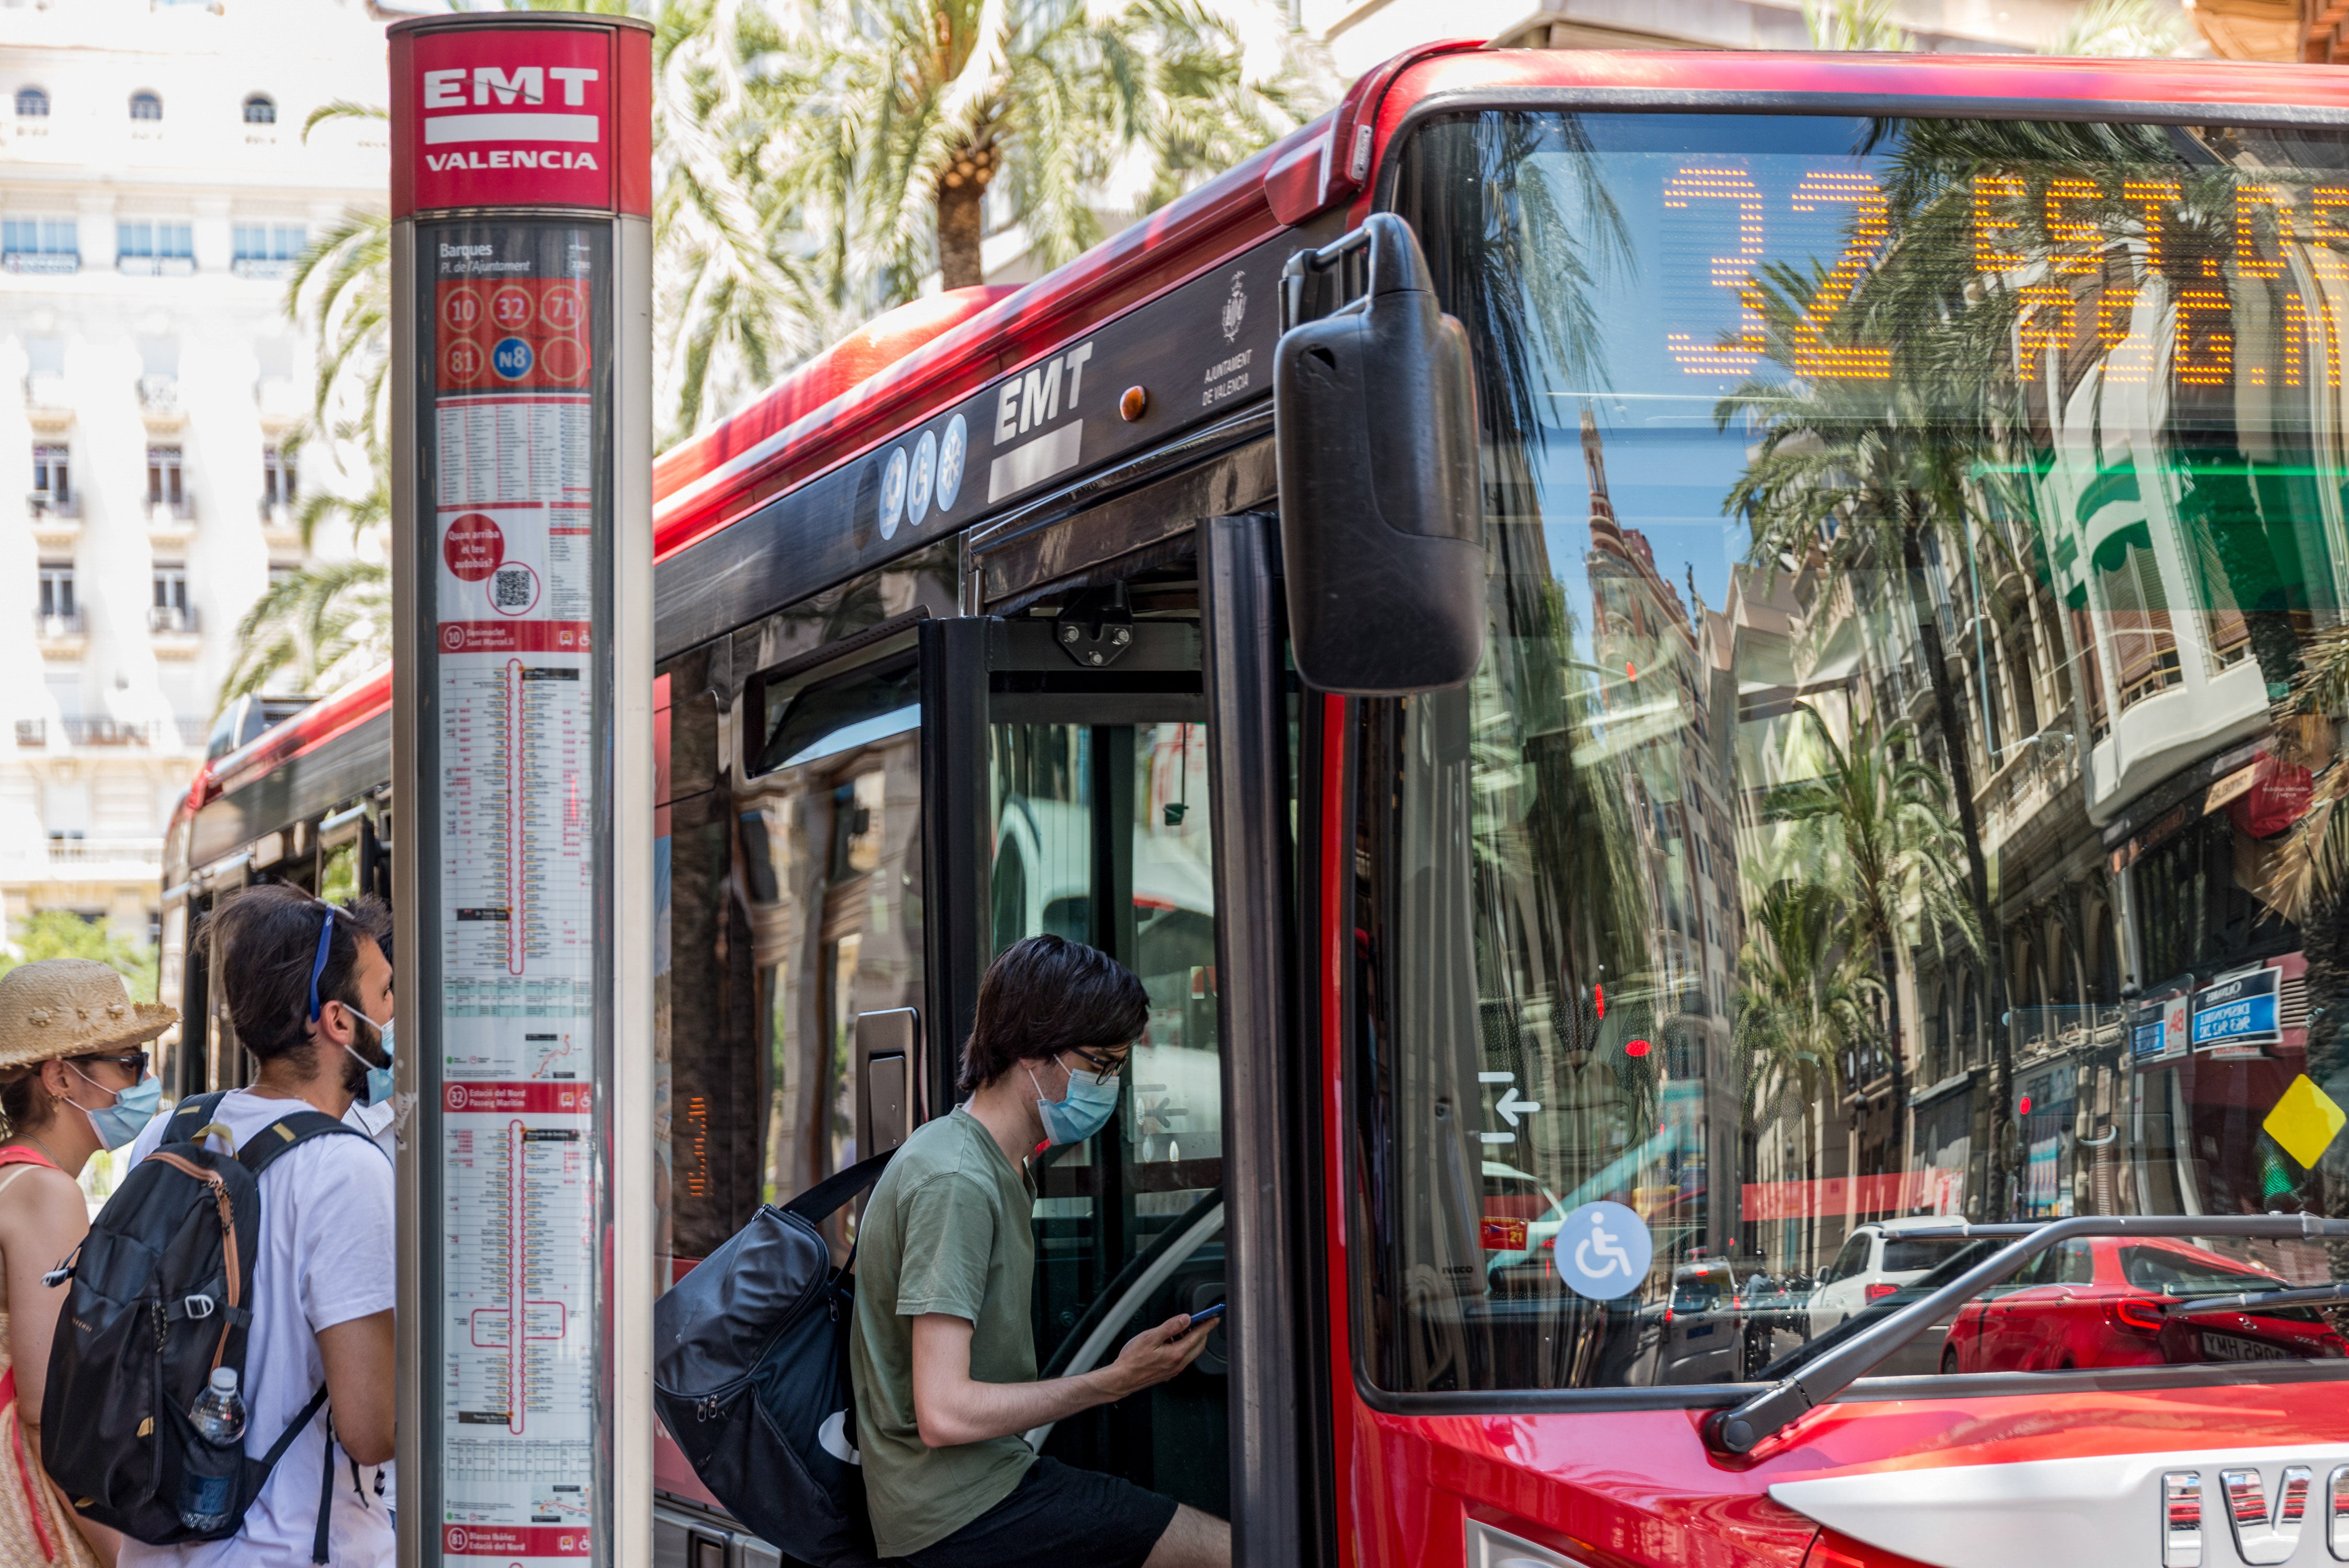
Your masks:
M 1116 176 L 1139 174 L 1149 209 L 1318 113 L 1320 73 L 1280 12 L 1217 5 L 799 0 L 749 61 L 761 200 L 820 218 L 836 284 L 874 305 L 933 268 L 947 289 L 984 282 L 996 188 L 1057 265 L 1099 237 Z

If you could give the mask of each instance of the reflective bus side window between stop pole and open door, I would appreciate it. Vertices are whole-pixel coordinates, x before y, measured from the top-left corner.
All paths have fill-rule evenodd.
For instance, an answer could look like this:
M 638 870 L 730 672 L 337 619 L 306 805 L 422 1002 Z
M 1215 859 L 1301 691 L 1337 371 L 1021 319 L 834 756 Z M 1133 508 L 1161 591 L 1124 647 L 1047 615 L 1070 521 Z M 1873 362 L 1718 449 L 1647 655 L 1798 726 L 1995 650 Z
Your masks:
M 902 638 L 808 664 L 914 610 L 954 613 L 951 545 L 665 667 L 655 1115 L 667 1113 L 681 1261 L 857 1157 L 857 1014 L 914 1007 L 930 1023 L 911 622 Z M 829 1232 L 846 1249 L 853 1211 Z

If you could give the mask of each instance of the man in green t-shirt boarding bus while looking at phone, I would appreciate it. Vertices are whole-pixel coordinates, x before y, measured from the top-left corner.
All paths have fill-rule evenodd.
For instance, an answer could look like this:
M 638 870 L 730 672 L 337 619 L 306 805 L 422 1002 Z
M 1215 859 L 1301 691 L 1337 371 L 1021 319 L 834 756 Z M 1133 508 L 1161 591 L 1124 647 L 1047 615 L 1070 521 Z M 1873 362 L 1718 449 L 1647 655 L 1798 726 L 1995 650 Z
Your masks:
M 1174 1314 L 1118 1359 L 1036 1380 L 1027 1160 L 1109 1124 L 1149 995 L 1106 953 L 1010 946 L 980 984 L 970 1099 L 895 1153 L 857 1230 L 850 1366 L 881 1556 L 914 1568 L 1229 1568 L 1231 1528 L 1118 1476 L 1038 1458 L 1022 1432 L 1165 1383 L 1207 1345 Z

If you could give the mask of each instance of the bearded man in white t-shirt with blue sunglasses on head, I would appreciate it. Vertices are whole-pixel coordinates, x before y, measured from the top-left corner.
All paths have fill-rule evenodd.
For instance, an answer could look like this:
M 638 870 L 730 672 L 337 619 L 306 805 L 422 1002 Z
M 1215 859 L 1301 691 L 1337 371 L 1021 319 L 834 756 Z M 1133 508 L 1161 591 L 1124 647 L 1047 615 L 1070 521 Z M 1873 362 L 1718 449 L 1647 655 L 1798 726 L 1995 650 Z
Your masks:
M 338 1122 L 308 1122 L 308 1134 L 357 1136 L 305 1136 L 258 1176 L 244 1453 L 265 1458 L 296 1422 L 301 1434 L 235 1535 L 164 1547 L 129 1540 L 120 1568 L 392 1563 L 390 1516 L 359 1476 L 362 1465 L 392 1458 L 392 1164 L 343 1122 L 355 1101 L 390 1099 L 392 965 L 366 934 L 371 925 L 369 911 L 263 885 L 221 904 L 200 934 L 218 958 L 228 1019 L 258 1075 L 204 1110 L 186 1101 L 183 1115 L 148 1127 L 132 1150 L 134 1169 L 155 1148 L 195 1138 L 197 1115 L 228 1131 L 228 1141 L 209 1138 L 221 1153 L 249 1150 L 301 1113 Z M 319 1390 L 324 1408 L 303 1420 Z

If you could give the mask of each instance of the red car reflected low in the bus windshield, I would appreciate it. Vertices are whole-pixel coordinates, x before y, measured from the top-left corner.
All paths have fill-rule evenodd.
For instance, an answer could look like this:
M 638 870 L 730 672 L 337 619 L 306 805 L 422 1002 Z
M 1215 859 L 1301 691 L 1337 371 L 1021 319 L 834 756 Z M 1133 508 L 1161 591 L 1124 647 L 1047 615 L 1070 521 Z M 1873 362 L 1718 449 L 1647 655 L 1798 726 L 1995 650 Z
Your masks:
M 2187 1300 L 2286 1289 L 2286 1279 L 2192 1242 L 2065 1242 L 2039 1253 L 2004 1289 L 1959 1307 L 1943 1340 L 1940 1368 L 2065 1371 L 2349 1357 L 2349 1340 L 2311 1307 L 2175 1310 Z

